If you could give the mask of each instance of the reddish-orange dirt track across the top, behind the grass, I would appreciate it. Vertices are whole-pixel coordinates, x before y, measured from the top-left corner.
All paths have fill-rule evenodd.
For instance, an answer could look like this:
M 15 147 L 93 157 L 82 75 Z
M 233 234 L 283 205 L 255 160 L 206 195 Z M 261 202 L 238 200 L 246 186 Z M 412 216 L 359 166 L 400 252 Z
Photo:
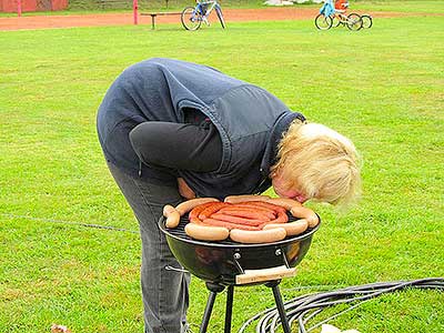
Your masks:
M 264 9 L 224 9 L 226 22 L 239 21 L 284 21 L 313 19 L 319 9 L 312 8 L 264 8 Z M 406 13 L 374 12 L 374 18 L 405 16 Z M 414 13 L 408 13 L 410 16 Z M 179 16 L 157 17 L 157 23 L 180 23 Z M 124 26 L 132 24 L 132 13 L 103 13 L 85 16 L 36 16 L 0 18 L 0 30 L 53 29 L 73 27 Z M 139 16 L 139 24 L 151 24 L 151 17 Z

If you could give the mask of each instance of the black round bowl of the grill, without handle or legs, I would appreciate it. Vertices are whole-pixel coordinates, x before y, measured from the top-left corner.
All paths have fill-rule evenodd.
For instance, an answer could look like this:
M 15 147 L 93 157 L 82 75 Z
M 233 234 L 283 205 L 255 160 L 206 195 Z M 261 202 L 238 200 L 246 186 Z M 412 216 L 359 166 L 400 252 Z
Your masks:
M 289 214 L 290 221 L 295 219 Z M 206 282 L 221 285 L 235 284 L 235 276 L 244 270 L 262 270 L 286 265 L 296 266 L 310 249 L 313 234 L 320 228 L 307 229 L 304 233 L 279 242 L 242 244 L 231 240 L 220 242 L 198 241 L 186 235 L 186 215 L 174 229 L 165 226 L 161 216 L 159 228 L 167 238 L 171 252 L 191 274 Z

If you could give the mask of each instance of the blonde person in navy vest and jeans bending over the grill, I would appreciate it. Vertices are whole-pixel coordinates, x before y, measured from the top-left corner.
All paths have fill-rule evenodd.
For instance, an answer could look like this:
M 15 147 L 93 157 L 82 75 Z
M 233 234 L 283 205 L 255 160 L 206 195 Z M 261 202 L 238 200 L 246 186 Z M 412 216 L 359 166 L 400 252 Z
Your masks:
M 139 221 L 148 333 L 186 330 L 190 276 L 165 270 L 180 264 L 158 228 L 164 204 L 270 186 L 301 203 L 345 204 L 360 190 L 349 139 L 206 65 L 150 59 L 128 68 L 100 105 L 98 133 Z

